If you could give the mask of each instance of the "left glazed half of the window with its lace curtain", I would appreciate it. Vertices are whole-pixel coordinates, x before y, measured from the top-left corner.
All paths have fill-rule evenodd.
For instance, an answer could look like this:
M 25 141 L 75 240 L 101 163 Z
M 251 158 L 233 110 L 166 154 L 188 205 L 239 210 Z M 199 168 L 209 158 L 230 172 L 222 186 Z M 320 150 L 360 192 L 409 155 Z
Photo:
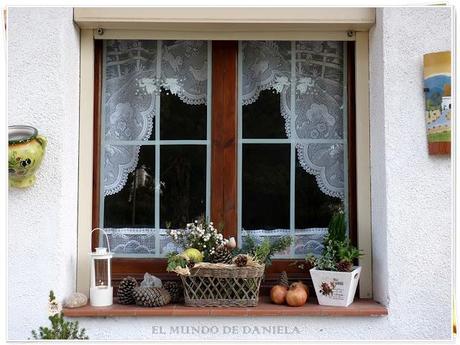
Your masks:
M 168 225 L 209 217 L 210 45 L 102 45 L 99 226 L 117 257 L 165 257 Z

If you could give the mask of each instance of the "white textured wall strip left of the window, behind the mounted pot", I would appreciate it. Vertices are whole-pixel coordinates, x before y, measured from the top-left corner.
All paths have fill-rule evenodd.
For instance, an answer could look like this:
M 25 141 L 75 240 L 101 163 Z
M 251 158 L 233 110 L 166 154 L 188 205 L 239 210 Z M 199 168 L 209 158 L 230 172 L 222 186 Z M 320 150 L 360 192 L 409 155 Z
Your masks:
M 48 147 L 33 188 L 9 190 L 8 336 L 48 322 L 47 296 L 75 289 L 79 30 L 71 8 L 8 10 L 8 122 Z

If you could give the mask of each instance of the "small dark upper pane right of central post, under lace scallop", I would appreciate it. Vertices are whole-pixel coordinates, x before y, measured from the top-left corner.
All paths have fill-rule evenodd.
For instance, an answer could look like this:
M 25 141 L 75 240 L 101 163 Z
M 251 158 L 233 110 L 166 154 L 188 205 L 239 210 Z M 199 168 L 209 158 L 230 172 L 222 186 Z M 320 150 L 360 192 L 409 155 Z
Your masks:
M 280 94 L 262 91 L 257 101 L 243 106 L 243 138 L 286 138 L 280 114 Z

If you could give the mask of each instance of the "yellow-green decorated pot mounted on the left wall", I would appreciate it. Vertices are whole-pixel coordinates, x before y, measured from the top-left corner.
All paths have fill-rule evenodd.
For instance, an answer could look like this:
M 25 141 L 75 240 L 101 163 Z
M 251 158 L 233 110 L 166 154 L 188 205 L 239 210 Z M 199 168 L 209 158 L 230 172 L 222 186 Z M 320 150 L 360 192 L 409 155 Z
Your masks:
M 26 188 L 35 183 L 35 172 L 40 167 L 46 147 L 46 138 L 31 126 L 8 127 L 8 180 L 10 187 Z

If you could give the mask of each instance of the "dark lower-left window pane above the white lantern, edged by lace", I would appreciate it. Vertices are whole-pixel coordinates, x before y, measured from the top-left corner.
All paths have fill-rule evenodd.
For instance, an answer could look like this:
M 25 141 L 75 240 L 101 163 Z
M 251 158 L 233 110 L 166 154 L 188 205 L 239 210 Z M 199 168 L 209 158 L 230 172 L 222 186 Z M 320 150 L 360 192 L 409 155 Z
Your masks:
M 123 189 L 104 198 L 104 227 L 136 228 L 155 226 L 154 146 L 141 146 L 136 169 Z

